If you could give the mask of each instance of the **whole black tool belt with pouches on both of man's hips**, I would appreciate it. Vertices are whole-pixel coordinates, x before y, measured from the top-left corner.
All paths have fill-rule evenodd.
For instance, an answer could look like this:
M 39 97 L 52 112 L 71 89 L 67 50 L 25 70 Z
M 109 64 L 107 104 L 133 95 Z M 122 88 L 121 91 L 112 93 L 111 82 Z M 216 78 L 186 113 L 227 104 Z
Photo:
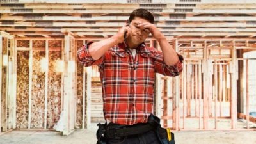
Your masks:
M 107 138 L 122 138 L 125 136 L 143 134 L 150 130 L 154 130 L 156 132 L 157 137 L 162 144 L 175 144 L 174 134 L 170 132 L 170 129 L 162 128 L 160 125 L 160 119 L 154 115 L 150 115 L 148 122 L 145 124 L 119 125 L 109 123 L 109 125 L 107 125 L 99 123 L 98 127 L 97 144 L 106 144 Z

